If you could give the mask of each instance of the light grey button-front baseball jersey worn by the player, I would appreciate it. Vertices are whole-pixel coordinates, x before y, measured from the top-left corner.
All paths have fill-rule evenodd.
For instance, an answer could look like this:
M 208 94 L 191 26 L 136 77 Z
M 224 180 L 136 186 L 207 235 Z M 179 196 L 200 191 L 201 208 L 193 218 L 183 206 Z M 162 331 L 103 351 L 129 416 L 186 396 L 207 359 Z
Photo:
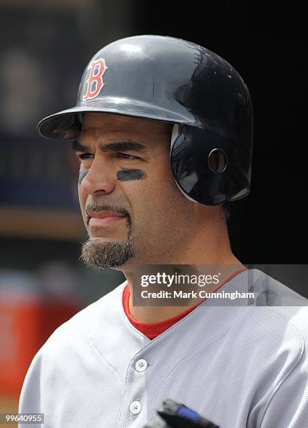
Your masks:
M 257 269 L 221 290 L 247 284 L 284 306 L 208 299 L 150 340 L 124 313 L 122 283 L 37 352 L 19 411 L 44 413 L 45 428 L 142 428 L 170 398 L 221 428 L 308 427 L 308 301 Z

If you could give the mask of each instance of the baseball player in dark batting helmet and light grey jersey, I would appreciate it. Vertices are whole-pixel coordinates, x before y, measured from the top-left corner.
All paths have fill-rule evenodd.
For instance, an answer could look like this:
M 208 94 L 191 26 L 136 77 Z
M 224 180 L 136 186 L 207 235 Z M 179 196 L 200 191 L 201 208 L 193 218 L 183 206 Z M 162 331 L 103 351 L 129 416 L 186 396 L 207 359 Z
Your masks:
M 73 138 L 83 261 L 126 280 L 37 352 L 20 413 L 44 413 L 45 428 L 142 428 L 171 399 L 221 428 L 308 427 L 307 299 L 246 269 L 223 216 L 250 188 L 253 111 L 237 71 L 188 41 L 124 38 L 38 131 Z M 257 297 L 133 305 L 145 265 L 219 266 L 207 290 Z

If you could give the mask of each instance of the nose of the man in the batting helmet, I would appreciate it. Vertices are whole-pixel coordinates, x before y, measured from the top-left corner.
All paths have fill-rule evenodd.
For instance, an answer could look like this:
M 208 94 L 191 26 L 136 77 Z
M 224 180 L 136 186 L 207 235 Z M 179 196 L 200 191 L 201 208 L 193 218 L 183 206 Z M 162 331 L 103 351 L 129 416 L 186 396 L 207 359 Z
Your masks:
M 108 162 L 95 157 L 89 169 L 80 168 L 80 190 L 87 194 L 96 192 L 111 193 L 115 189 L 117 176 Z

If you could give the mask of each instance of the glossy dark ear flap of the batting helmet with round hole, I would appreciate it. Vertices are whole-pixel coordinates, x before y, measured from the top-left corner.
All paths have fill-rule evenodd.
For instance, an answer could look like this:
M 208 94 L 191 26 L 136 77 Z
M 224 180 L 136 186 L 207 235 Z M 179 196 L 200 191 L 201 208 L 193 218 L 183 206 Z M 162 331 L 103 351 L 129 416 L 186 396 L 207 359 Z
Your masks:
M 170 148 L 170 165 L 179 190 L 191 201 L 219 205 L 249 192 L 249 162 L 243 147 L 207 129 L 179 125 Z M 244 167 L 240 167 L 242 165 Z

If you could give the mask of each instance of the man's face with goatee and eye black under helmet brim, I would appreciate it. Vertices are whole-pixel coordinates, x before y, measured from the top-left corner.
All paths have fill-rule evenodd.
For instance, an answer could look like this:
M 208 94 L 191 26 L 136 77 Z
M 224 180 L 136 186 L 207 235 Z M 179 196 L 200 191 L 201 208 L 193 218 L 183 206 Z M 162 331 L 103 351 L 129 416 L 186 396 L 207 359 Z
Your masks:
M 73 148 L 89 239 L 82 259 L 96 269 L 168 264 L 193 223 L 193 204 L 170 169 L 170 125 L 88 113 Z

